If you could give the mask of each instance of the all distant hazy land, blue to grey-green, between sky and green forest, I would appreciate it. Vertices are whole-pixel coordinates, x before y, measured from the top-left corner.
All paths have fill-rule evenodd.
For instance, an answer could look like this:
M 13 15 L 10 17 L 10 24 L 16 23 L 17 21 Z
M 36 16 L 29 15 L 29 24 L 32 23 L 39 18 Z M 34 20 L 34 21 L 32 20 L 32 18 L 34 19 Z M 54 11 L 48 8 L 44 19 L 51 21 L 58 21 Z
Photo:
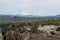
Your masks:
M 56 16 L 33 16 L 33 15 L 25 15 L 25 16 L 17 16 L 17 15 L 0 15 L 0 23 L 4 22 L 31 22 L 31 21 L 45 21 L 45 20 L 60 20 L 60 15 Z

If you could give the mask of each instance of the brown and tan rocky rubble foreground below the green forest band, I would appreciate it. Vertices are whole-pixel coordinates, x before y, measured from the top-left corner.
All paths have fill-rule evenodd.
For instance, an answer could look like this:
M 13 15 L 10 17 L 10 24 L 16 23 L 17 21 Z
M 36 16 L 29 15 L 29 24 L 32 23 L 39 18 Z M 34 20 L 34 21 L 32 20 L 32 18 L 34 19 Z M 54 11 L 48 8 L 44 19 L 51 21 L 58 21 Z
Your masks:
M 37 27 L 35 25 L 30 27 L 29 30 L 26 27 L 9 27 L 5 30 L 3 40 L 60 40 L 59 29 L 60 27 L 53 27 L 52 25 L 49 25 L 49 27 Z

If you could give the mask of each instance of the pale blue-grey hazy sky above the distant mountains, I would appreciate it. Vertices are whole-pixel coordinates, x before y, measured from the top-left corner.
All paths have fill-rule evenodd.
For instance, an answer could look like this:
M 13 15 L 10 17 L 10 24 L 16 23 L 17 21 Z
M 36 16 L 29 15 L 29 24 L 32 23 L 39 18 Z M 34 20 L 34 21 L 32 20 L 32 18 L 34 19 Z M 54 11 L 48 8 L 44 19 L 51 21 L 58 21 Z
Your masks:
M 0 14 L 57 15 L 60 0 L 0 0 Z

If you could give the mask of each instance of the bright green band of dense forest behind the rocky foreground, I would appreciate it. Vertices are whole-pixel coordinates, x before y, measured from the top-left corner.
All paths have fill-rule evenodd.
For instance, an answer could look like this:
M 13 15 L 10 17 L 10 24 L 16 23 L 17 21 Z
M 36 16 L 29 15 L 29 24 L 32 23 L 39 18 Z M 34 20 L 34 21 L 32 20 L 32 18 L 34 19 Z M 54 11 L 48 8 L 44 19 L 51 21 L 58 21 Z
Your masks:
M 41 24 L 41 25 L 60 25 L 60 20 L 47 20 L 47 21 L 32 21 L 32 22 L 6 22 L 0 23 L 0 27 L 4 25 L 11 25 L 11 26 L 26 26 L 26 25 L 34 25 L 34 24 Z

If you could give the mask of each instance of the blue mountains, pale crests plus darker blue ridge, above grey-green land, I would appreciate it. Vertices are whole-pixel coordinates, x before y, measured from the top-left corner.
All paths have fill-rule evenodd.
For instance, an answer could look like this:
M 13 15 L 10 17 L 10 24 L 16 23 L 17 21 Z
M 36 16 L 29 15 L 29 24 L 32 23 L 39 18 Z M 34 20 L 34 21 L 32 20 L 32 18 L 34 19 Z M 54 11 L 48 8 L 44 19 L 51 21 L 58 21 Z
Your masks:
M 10 18 L 60 19 L 60 15 L 56 15 L 56 16 L 34 16 L 34 15 L 4 15 L 4 14 L 0 14 L 0 18 L 5 18 L 5 17 L 10 17 Z

